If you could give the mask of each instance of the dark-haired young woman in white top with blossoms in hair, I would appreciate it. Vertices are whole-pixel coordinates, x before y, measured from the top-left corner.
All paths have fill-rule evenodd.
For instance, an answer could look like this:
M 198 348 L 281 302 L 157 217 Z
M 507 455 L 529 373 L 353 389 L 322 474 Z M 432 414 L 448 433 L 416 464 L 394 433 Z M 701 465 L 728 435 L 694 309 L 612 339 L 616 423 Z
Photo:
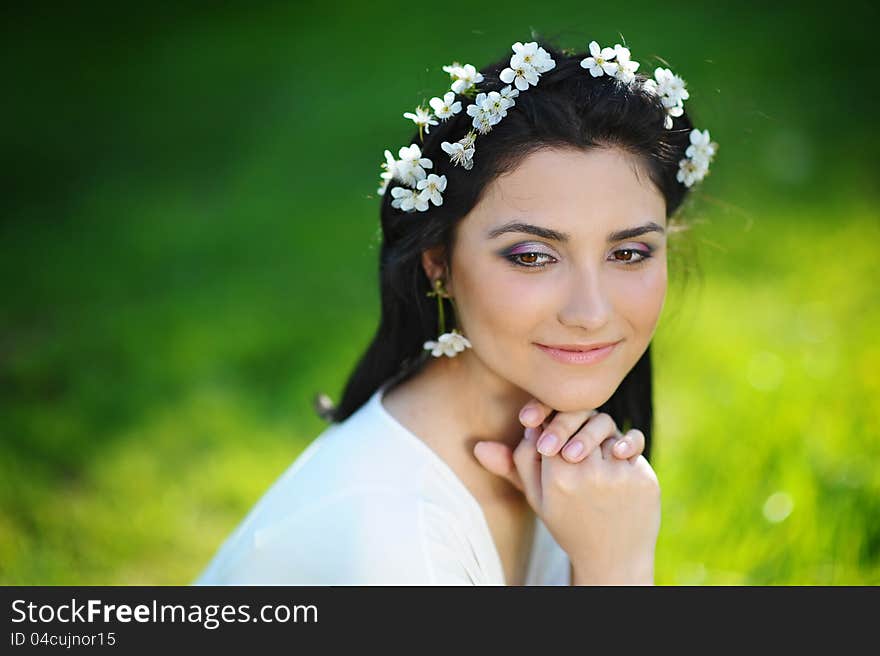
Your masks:
M 405 115 L 376 335 L 197 583 L 653 583 L 650 343 L 715 144 L 668 69 L 542 45 Z

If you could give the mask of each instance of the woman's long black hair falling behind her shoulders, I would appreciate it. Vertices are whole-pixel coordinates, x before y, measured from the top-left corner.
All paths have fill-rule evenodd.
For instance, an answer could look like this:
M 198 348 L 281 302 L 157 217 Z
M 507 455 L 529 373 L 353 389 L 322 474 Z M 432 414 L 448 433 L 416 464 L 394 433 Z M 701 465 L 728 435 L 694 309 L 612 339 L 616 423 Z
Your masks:
M 446 247 L 451 262 L 455 229 L 477 204 L 483 190 L 497 176 L 510 171 L 529 154 L 546 147 L 588 150 L 616 147 L 636 155 L 651 181 L 666 199 L 667 217 L 682 205 L 687 187 L 676 180 L 678 162 L 685 155 L 692 129 L 687 113 L 664 126 L 666 109 L 658 96 L 645 91 L 646 76 L 636 75 L 625 84 L 607 75 L 593 77 L 580 66 L 589 53 L 561 50 L 540 40 L 556 66 L 540 76 L 538 85 L 520 92 L 515 106 L 485 135 L 478 135 L 474 166 L 453 166 L 441 149 L 443 141 L 455 142 L 471 129 L 471 117 L 461 111 L 433 126 L 421 140 L 418 132 L 410 143 L 420 144 L 429 158 L 432 173 L 445 174 L 447 188 L 441 206 L 426 212 L 403 212 L 391 206 L 392 180 L 381 207 L 382 244 L 379 284 L 382 314 L 366 352 L 355 366 L 335 407 L 326 396 L 316 400 L 319 414 L 341 422 L 360 408 L 386 381 L 400 382 L 416 373 L 430 354 L 426 340 L 436 338 L 437 302 L 426 296 L 429 281 L 422 268 L 422 252 Z M 510 55 L 481 69 L 480 91 L 500 91 L 499 78 Z M 439 94 L 442 95 L 442 94 Z M 462 107 L 471 99 L 457 95 Z M 447 302 L 447 301 L 444 301 Z M 445 306 L 447 330 L 456 326 L 452 308 Z M 450 321 L 451 320 L 451 321 Z M 610 414 L 622 431 L 639 428 L 645 435 L 645 458 L 650 456 L 653 423 L 650 345 L 611 398 L 599 410 Z

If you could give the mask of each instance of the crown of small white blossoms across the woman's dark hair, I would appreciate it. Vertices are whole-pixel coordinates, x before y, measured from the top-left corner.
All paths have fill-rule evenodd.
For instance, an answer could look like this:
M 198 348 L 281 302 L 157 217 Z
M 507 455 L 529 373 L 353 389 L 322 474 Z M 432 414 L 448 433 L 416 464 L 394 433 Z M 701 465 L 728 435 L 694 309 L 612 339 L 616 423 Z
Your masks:
M 415 112 L 406 112 L 403 115 L 419 127 L 419 139 L 424 141 L 424 134 L 430 133 L 431 126 L 439 125 L 436 119 L 445 122 L 461 111 L 461 101 L 456 100 L 456 94 L 473 99 L 465 110 L 472 117 L 472 128 L 458 141 L 444 141 L 440 144 L 449 155 L 453 166 L 461 166 L 466 170 L 473 168 L 477 136 L 489 133 L 507 116 L 507 110 L 516 104 L 514 98 L 521 91 L 537 86 L 541 74 L 556 66 L 550 54 L 537 42 L 523 44 L 517 41 L 512 47 L 514 54 L 510 58 L 510 65 L 500 74 L 501 81 L 507 85 L 501 91 L 479 91 L 476 85 L 483 81 L 483 75 L 471 64 L 453 62 L 443 67 L 452 80 L 451 90 L 442 98 L 431 98 L 428 102 L 430 109 L 419 106 Z M 624 84 L 630 84 L 636 79 L 639 62 L 630 59 L 629 48 L 620 44 L 616 44 L 614 48 L 601 48 L 596 41 L 591 41 L 589 51 L 590 56 L 581 60 L 580 65 L 593 77 L 608 75 Z M 644 80 L 642 88 L 660 96 L 663 107 L 666 108 L 664 126 L 671 129 L 672 119 L 684 113 L 684 101 L 690 97 L 684 80 L 668 68 L 656 68 L 654 77 Z M 473 97 L 474 94 L 476 98 Z M 717 149 L 718 144 L 711 140 L 708 130 L 691 130 L 690 145 L 685 151 L 685 157 L 678 163 L 676 179 L 687 187 L 701 181 L 708 174 L 709 164 Z M 427 157 L 422 157 L 418 144 L 400 148 L 397 159 L 391 151 L 386 150 L 382 168 L 382 182 L 377 190 L 380 196 L 385 194 L 392 180 L 402 184 L 391 189 L 394 197 L 391 201 L 392 207 L 405 212 L 424 212 L 430 208 L 431 203 L 438 206 L 443 204 L 446 176 L 426 171 L 433 169 L 434 163 Z

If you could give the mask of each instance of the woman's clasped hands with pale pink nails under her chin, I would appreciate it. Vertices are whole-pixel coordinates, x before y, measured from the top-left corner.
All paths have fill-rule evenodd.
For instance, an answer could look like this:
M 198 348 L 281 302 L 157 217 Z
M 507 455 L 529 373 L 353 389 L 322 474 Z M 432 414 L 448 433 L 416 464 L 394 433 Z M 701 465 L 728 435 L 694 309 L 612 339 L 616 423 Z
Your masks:
M 634 428 L 621 435 L 610 415 L 595 410 L 545 421 L 550 412 L 530 402 L 520 414 L 526 428 L 515 449 L 479 442 L 474 455 L 523 492 L 568 554 L 573 583 L 652 583 L 660 486 L 641 455 L 644 434 Z M 558 439 L 545 448 L 548 440 L 536 440 L 548 433 Z M 574 443 L 581 452 L 569 456 Z

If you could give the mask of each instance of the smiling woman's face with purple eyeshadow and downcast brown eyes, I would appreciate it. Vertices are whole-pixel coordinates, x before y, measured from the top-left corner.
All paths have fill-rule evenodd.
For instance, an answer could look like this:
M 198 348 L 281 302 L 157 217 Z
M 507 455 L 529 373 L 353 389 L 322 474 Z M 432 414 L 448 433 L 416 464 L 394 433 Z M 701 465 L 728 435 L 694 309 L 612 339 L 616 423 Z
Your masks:
M 666 203 L 637 166 L 614 148 L 543 149 L 487 187 L 459 224 L 447 283 L 469 365 L 563 412 L 611 397 L 666 297 Z M 607 342 L 591 363 L 538 346 Z

